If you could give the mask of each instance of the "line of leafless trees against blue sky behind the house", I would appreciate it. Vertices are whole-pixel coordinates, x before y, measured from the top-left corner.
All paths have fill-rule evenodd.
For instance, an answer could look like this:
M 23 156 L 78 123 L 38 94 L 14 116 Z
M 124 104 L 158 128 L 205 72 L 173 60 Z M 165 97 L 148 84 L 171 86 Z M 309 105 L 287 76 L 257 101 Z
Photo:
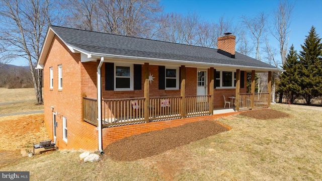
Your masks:
M 165 13 L 158 0 L 0 0 L 0 62 L 27 60 L 38 104 L 43 102 L 42 70 L 35 64 L 49 25 L 210 48 L 217 48 L 217 37 L 230 32 L 236 36 L 237 52 L 280 66 L 293 7 L 281 0 L 270 14 L 236 17 L 238 21 L 222 16 L 208 22 L 196 13 Z M 279 42 L 278 49 L 270 45 L 269 35 Z M 281 59 L 275 58 L 278 53 Z

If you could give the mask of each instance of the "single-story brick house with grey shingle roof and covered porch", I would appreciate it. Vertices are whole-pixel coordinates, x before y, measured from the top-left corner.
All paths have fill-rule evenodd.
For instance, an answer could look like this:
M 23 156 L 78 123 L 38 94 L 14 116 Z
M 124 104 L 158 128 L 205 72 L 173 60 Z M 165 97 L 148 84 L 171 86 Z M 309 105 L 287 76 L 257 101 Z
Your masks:
M 280 71 L 235 52 L 229 34 L 213 49 L 57 26 L 36 68 L 50 137 L 60 149 L 100 151 L 133 134 L 213 119 L 223 96 L 234 96 L 233 112 L 269 108 L 271 72 Z M 255 72 L 268 72 L 268 93 L 255 94 Z

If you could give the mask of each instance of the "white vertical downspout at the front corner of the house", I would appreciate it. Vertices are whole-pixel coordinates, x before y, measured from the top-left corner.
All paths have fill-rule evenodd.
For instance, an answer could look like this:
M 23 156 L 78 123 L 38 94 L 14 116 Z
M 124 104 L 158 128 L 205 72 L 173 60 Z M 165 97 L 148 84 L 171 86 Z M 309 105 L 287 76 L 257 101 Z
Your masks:
M 98 109 L 98 131 L 99 131 L 99 151 L 104 154 L 102 146 L 102 79 L 101 79 L 101 67 L 104 62 L 104 57 L 101 57 L 101 61 L 97 67 L 97 109 Z

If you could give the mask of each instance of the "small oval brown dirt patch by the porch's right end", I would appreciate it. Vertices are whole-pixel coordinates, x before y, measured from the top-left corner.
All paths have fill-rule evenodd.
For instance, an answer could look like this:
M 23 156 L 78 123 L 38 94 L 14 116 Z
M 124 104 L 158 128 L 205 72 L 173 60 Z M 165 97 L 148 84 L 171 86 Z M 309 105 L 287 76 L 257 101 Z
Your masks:
M 283 113 L 272 109 L 246 111 L 246 112 L 240 113 L 239 115 L 260 119 L 260 120 L 277 119 L 277 118 L 284 118 L 289 116 L 289 114 L 287 113 Z

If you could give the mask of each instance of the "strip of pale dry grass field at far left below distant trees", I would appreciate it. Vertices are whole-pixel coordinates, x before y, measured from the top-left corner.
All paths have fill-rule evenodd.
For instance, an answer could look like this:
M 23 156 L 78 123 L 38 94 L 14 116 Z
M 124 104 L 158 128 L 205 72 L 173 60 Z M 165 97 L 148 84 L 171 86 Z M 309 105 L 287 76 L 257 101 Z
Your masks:
M 0 87 L 0 103 L 15 101 L 35 101 L 34 88 L 4 88 Z

